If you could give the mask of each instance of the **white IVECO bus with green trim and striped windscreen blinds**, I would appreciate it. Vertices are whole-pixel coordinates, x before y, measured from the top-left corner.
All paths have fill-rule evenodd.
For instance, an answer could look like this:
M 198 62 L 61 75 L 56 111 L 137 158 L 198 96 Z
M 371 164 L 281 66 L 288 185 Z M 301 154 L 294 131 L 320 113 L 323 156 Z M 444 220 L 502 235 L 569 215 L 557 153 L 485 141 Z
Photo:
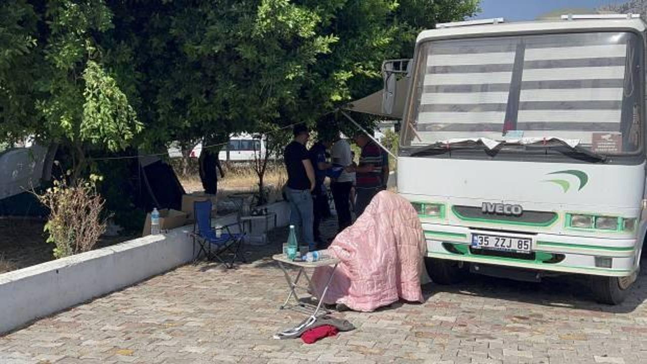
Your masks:
M 397 183 L 432 280 L 578 273 L 622 302 L 647 230 L 644 69 L 637 16 L 419 34 Z

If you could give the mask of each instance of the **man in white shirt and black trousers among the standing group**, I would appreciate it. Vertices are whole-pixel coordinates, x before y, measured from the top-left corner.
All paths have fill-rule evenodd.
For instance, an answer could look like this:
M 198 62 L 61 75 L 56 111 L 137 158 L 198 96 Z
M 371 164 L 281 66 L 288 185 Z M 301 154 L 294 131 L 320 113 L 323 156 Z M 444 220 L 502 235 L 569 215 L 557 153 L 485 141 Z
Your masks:
M 334 166 L 347 167 L 353 164 L 353 157 L 351 156 L 351 144 L 345 139 L 340 139 L 337 135 L 336 141 L 331 149 L 331 158 Z M 331 181 L 331 191 L 333 192 L 334 209 L 337 211 L 337 222 L 339 224 L 339 231 L 343 231 L 349 227 L 353 220 L 351 218 L 351 207 L 349 195 L 353 181 L 355 180 L 354 173 L 343 171 L 339 177 Z

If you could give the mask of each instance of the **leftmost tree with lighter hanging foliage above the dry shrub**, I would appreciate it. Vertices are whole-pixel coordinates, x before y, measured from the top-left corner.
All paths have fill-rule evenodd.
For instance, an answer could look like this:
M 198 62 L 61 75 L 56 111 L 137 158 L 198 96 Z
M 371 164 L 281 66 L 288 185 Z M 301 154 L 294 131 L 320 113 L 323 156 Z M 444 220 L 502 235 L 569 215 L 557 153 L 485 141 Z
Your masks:
M 0 52 L 3 139 L 33 134 L 63 144 L 76 180 L 87 172 L 89 150 L 123 150 L 141 130 L 101 45 L 113 13 L 102 0 L 2 6 L 0 37 L 11 40 Z

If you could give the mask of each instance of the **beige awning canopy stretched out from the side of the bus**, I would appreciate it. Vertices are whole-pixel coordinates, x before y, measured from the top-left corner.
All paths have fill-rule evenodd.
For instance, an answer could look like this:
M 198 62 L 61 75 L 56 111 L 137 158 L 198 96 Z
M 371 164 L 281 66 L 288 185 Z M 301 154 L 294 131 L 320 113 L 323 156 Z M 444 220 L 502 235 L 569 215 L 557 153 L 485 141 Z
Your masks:
M 342 110 L 355 111 L 356 113 L 365 113 L 371 115 L 379 115 L 389 119 L 402 119 L 404 115 L 404 99 L 409 87 L 410 78 L 402 78 L 395 83 L 395 89 L 393 95 L 395 95 L 395 100 L 393 100 L 393 107 L 391 111 L 388 112 L 388 108 L 384 107 L 384 89 L 372 93 L 367 97 L 360 98 L 349 102 L 342 106 Z

